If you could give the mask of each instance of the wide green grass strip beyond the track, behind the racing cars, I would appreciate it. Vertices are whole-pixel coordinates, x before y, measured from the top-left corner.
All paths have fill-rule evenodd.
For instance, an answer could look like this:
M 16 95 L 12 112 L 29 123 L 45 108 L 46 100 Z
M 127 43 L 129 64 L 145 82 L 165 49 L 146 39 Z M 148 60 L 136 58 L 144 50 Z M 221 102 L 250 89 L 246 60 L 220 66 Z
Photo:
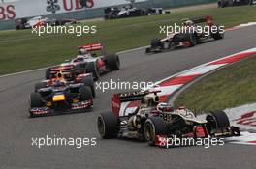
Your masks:
M 109 52 L 148 45 L 152 38 L 159 37 L 160 25 L 172 25 L 179 23 L 182 18 L 206 14 L 213 15 L 217 23 L 226 27 L 256 20 L 254 7 L 234 7 L 88 22 L 84 24 L 96 25 L 98 33 L 83 37 L 38 37 L 31 34 L 31 30 L 3 31 L 0 32 L 0 74 L 57 64 L 74 57 L 77 53 L 76 47 L 87 42 L 103 42 Z

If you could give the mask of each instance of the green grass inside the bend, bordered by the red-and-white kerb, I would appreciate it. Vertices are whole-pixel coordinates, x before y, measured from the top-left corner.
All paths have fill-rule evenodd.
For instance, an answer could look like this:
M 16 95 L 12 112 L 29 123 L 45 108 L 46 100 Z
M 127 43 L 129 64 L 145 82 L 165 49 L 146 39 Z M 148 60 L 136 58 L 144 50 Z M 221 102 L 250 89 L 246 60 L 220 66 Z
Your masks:
M 185 90 L 175 105 L 199 112 L 256 102 L 256 56 L 217 70 Z

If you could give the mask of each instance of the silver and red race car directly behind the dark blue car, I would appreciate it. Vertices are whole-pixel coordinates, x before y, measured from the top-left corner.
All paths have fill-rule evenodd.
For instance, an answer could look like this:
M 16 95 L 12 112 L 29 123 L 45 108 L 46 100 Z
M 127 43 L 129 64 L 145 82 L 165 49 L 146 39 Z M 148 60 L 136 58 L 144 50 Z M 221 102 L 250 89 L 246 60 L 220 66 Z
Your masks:
M 101 43 L 93 43 L 80 46 L 79 55 L 62 65 L 73 65 L 76 70 L 92 73 L 94 79 L 98 79 L 103 73 L 119 70 L 120 60 L 117 54 L 106 54 Z M 46 71 L 47 79 L 50 70 Z

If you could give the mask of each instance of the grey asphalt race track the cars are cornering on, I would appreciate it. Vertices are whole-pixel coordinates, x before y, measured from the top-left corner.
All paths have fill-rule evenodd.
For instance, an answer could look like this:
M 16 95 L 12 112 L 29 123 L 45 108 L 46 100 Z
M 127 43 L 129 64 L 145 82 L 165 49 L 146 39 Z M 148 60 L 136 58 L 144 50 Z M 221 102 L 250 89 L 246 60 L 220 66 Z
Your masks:
M 157 81 L 178 71 L 187 70 L 241 50 L 255 47 L 256 26 L 226 33 L 226 38 L 193 48 L 156 55 L 144 50 L 120 55 L 121 70 L 102 76 L 100 81 Z M 180 168 L 180 169 L 253 169 L 256 147 L 225 144 L 210 147 L 152 148 L 137 141 L 99 138 L 96 117 L 110 110 L 111 95 L 116 91 L 98 91 L 93 112 L 28 118 L 28 95 L 44 71 L 34 71 L 0 78 L 0 168 Z M 238 94 L 239 95 L 239 94 Z M 32 137 L 96 137 L 96 146 L 76 149 L 31 146 Z

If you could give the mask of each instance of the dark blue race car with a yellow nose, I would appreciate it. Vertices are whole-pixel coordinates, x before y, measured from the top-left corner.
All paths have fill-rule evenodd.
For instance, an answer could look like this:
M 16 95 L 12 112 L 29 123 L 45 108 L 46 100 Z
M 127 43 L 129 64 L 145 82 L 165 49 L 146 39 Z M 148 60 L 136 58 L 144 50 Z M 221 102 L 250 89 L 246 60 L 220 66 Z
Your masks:
M 59 71 L 56 77 L 35 84 L 29 97 L 29 116 L 75 113 L 93 107 L 94 82 L 91 74 L 79 74 L 72 81 L 70 72 Z M 95 95 L 95 94 L 94 94 Z

